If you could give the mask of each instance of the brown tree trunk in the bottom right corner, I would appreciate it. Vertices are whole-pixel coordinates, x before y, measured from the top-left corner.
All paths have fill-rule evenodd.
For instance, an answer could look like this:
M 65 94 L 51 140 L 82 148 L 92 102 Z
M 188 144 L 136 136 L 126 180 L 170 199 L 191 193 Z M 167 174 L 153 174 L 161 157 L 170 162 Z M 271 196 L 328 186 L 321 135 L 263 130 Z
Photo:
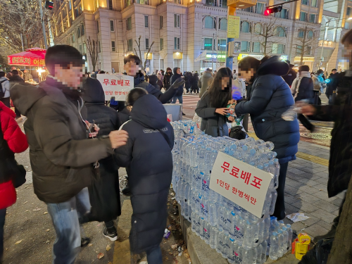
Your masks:
M 346 201 L 337 225 L 334 243 L 327 264 L 352 263 L 352 180 L 348 184 Z

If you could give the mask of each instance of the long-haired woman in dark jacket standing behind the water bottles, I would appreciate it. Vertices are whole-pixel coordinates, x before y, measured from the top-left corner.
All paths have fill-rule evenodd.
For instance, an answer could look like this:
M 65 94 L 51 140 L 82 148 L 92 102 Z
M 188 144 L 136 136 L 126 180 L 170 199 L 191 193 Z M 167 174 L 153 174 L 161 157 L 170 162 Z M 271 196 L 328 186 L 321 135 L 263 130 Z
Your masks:
M 229 135 L 227 121 L 233 122 L 234 118 L 227 118 L 230 108 L 227 104 L 232 100 L 232 73 L 230 68 L 220 68 L 216 73 L 209 89 L 197 103 L 196 114 L 201 117 L 201 130 L 213 137 Z

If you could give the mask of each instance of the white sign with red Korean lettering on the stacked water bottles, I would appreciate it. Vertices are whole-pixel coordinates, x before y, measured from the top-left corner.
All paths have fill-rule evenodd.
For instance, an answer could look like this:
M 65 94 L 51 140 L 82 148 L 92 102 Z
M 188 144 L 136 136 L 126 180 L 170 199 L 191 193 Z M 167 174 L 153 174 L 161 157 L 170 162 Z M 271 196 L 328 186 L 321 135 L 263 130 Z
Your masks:
M 219 152 L 209 187 L 260 218 L 271 179 L 269 172 Z

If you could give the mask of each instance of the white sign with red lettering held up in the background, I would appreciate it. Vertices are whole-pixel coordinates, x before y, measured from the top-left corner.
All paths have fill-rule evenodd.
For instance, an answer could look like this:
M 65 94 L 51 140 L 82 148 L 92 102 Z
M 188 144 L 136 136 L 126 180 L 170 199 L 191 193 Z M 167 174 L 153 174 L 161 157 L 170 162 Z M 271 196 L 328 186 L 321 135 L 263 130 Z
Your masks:
M 126 96 L 133 89 L 133 76 L 121 74 L 97 74 L 96 79 L 103 86 L 105 101 L 115 96 L 115 101 L 126 101 Z

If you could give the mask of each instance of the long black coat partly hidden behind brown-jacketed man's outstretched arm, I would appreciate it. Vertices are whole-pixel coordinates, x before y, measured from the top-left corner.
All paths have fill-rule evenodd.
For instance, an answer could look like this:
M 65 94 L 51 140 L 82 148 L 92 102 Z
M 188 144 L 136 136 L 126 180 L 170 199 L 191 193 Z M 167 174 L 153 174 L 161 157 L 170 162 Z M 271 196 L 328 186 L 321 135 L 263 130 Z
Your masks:
M 95 121 L 99 125 L 99 137 L 108 135 L 120 127 L 120 118 L 117 111 L 105 106 L 105 95 L 101 83 L 87 78 L 83 85 L 84 106 L 87 108 L 87 120 Z M 92 205 L 89 220 L 109 221 L 121 214 L 120 187 L 118 182 L 118 165 L 113 156 L 99 161 L 100 177 L 94 179 L 89 186 L 89 199 Z

